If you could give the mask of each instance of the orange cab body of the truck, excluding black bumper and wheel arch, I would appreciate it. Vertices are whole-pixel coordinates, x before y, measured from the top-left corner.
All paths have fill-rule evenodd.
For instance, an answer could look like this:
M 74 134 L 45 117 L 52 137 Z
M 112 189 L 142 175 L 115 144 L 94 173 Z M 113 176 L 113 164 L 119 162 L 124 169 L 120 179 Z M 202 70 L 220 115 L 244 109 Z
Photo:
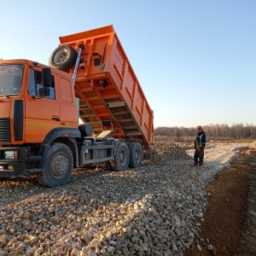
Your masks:
M 26 60 L 0 61 L 0 145 L 43 143 L 53 129 L 78 128 L 70 75 L 53 69 L 50 84 L 44 84 L 43 68 Z

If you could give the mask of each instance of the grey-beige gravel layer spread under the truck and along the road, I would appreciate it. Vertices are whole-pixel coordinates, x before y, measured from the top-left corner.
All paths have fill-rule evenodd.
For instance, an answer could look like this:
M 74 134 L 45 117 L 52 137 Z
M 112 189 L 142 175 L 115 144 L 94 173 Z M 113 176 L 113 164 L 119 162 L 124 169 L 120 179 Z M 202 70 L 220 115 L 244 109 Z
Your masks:
M 224 147 L 227 161 L 241 145 Z M 156 143 L 141 168 L 77 169 L 55 189 L 1 180 L 0 256 L 183 255 L 203 221 L 204 188 L 224 166 L 217 148 L 195 168 L 193 150 Z

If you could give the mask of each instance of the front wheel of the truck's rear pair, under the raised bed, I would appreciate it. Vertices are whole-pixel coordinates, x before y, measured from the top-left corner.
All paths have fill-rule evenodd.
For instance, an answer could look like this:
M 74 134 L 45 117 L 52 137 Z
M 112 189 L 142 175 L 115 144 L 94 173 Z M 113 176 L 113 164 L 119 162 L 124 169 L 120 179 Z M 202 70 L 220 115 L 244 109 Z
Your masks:
M 113 171 L 125 171 L 129 165 L 129 149 L 126 143 L 119 143 L 114 160 L 111 161 Z

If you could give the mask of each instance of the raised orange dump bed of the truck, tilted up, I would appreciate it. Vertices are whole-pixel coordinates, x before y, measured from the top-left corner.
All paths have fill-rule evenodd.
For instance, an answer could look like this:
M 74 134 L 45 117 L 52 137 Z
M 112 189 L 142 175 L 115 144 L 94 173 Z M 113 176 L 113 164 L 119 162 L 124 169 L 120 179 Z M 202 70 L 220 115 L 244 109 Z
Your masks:
M 79 116 L 95 134 L 110 130 L 113 137 L 140 139 L 145 148 L 154 142 L 154 114 L 125 55 L 113 26 L 60 37 L 60 46 L 79 52 L 75 95 Z M 73 73 L 74 67 L 67 72 Z

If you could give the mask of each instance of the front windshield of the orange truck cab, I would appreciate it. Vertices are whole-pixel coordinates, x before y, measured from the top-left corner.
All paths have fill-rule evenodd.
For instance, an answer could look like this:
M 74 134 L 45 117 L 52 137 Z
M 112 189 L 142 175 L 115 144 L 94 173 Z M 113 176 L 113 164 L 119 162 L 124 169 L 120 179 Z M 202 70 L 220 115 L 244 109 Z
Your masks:
M 23 65 L 0 65 L 0 97 L 20 93 Z

